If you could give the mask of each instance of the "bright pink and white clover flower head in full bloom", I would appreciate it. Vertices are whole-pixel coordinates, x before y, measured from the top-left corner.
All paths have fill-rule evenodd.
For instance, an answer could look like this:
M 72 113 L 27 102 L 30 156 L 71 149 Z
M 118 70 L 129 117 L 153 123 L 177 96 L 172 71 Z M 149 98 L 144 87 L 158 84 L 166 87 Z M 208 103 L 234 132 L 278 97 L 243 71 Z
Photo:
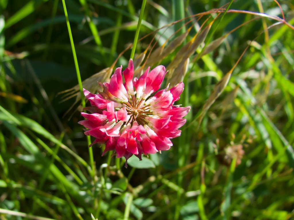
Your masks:
M 190 107 L 173 105 L 183 92 L 183 82 L 156 92 L 166 74 L 164 66 L 150 72 L 148 68 L 139 79 L 133 79 L 132 60 L 121 70 L 116 68 L 109 83 L 99 83 L 103 88 L 99 94 L 83 90 L 91 103 L 85 109 L 91 114 L 82 112 L 86 119 L 79 123 L 87 128 L 86 135 L 95 138 L 90 146 L 105 143 L 102 155 L 115 150 L 116 157 L 126 160 L 133 154 L 142 160 L 142 154 L 168 150 L 173 145 L 170 139 L 181 135 L 178 128 L 185 124 L 183 117 L 190 111 Z

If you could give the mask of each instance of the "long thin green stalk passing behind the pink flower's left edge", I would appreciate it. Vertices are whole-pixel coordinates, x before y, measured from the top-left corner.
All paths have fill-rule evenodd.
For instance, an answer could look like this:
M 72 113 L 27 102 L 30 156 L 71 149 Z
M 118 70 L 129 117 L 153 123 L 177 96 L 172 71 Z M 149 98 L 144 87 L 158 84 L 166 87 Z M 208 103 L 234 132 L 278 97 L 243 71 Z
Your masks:
M 66 11 L 66 6 L 65 6 L 65 0 L 62 0 L 62 4 L 63 4 L 63 8 L 64 8 L 64 14 L 65 14 L 65 18 L 66 18 L 66 25 L 67 25 L 67 29 L 69 31 L 69 39 L 71 41 L 71 50 L 73 52 L 73 56 L 74 56 L 74 63 L 75 63 L 75 67 L 76 67 L 76 75 L 77 75 L 77 78 L 78 78 L 78 85 L 79 85 L 79 88 L 80 88 L 80 92 L 81 92 L 81 102 L 82 102 L 82 106 L 83 108 L 86 107 L 86 102 L 85 102 L 85 99 L 84 99 L 84 94 L 83 94 L 83 85 L 82 85 L 82 80 L 81 80 L 81 74 L 80 74 L 80 70 L 79 70 L 79 67 L 78 67 L 78 59 L 76 57 L 76 50 L 74 48 L 74 40 L 73 40 L 73 36 L 71 34 L 71 27 L 70 27 L 70 24 L 69 24 L 69 16 L 67 15 L 67 11 Z M 88 145 L 91 144 L 91 138 L 90 136 L 87 136 L 87 141 L 88 141 Z M 91 164 L 91 169 L 92 169 L 92 172 L 91 172 L 91 176 L 92 176 L 92 179 L 94 181 L 94 159 L 93 159 L 93 150 L 92 148 L 88 148 L 89 149 L 89 156 L 90 156 L 90 164 Z

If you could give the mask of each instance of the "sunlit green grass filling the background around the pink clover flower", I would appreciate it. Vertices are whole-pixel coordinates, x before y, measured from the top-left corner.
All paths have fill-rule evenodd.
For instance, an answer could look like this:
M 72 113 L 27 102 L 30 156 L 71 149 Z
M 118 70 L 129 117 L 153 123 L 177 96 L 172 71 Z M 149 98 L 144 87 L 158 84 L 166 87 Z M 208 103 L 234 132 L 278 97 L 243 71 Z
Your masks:
M 122 2 L 0 2 L 0 219 L 293 218 L 293 3 Z M 192 110 L 126 169 L 88 148 L 83 96 L 64 116 L 56 94 L 129 57 L 169 67 Z

